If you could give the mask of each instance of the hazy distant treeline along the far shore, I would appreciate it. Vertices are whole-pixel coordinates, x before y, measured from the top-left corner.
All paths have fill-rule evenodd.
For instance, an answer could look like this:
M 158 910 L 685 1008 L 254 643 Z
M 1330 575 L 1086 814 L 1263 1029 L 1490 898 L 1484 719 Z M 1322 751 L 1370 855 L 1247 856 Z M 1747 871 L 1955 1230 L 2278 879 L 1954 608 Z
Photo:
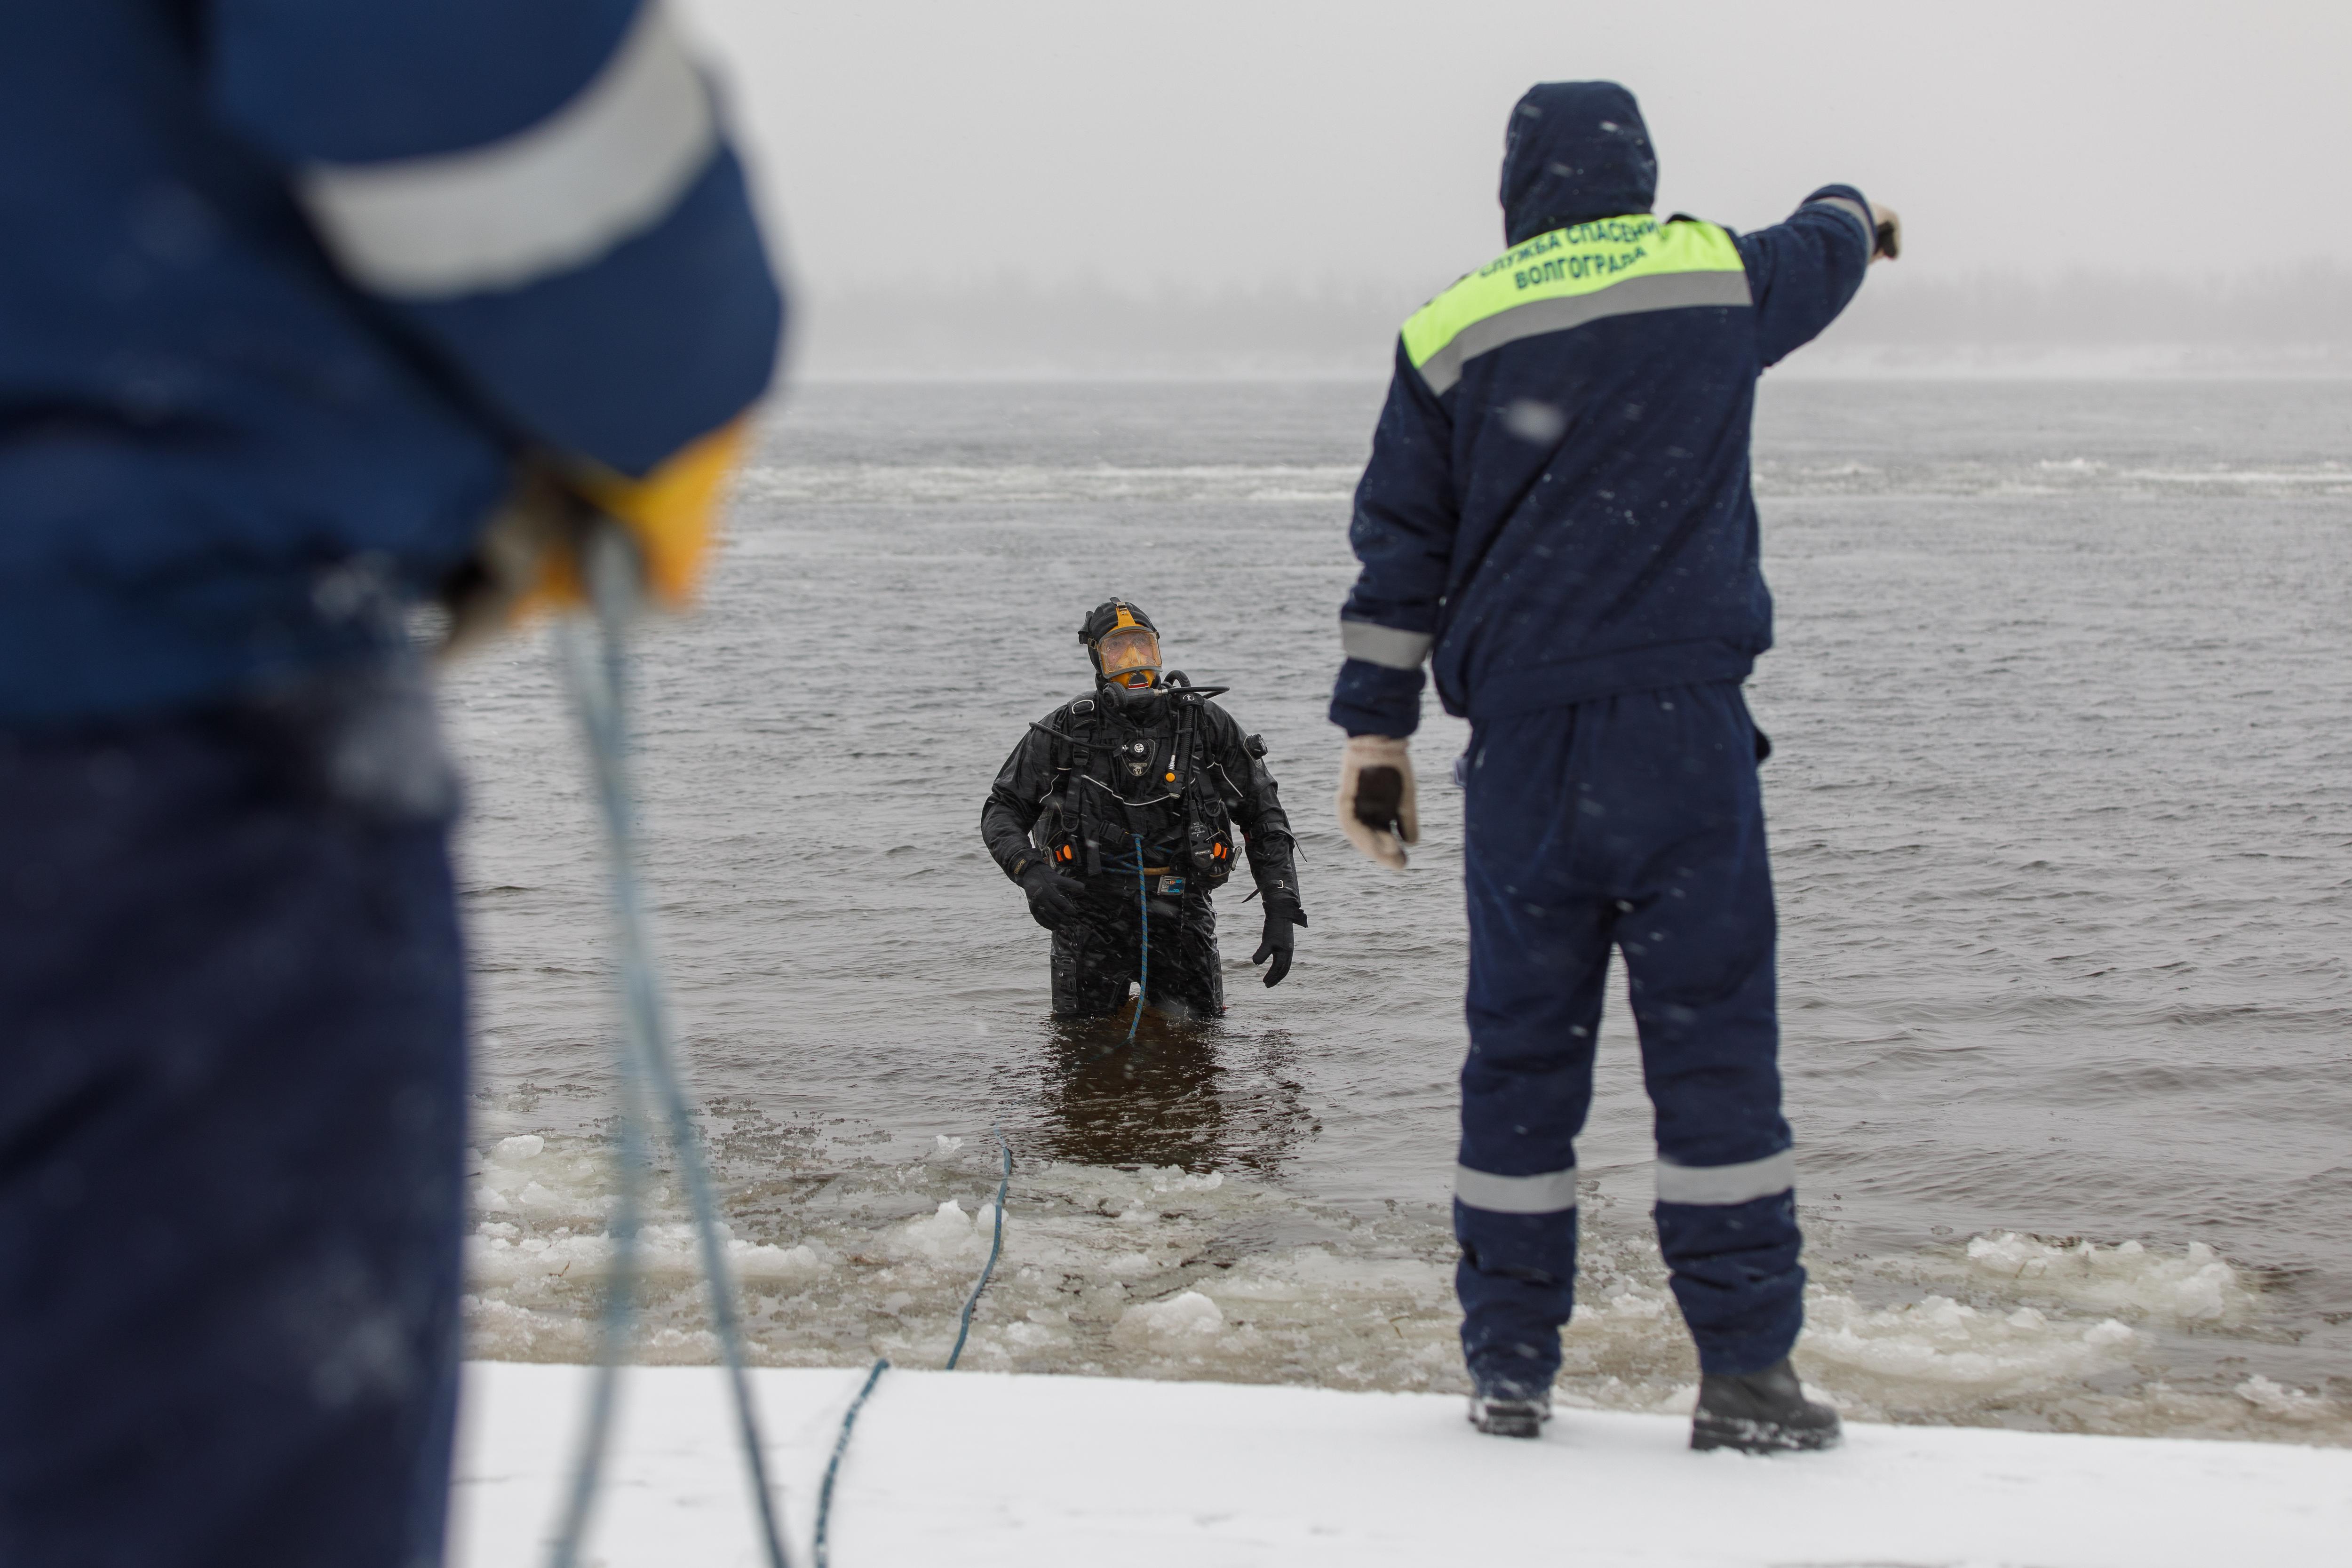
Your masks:
M 1446 280 L 1129 294 L 1098 282 L 1000 280 L 957 289 L 811 287 L 802 369 L 924 374 L 1362 374 L 1388 371 L 1397 324 Z M 2183 350 L 2190 364 L 2352 371 L 2352 268 L 2237 280 L 2122 273 L 1912 280 L 1882 268 L 1823 343 L 1825 362 L 1938 355 Z

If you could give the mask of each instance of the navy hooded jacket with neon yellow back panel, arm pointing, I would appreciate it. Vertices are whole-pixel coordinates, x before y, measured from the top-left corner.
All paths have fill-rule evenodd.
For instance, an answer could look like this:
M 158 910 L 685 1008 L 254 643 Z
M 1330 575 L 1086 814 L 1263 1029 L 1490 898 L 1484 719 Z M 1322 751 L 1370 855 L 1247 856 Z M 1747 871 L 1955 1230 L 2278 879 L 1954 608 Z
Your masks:
M 1755 383 L 1853 299 L 1870 207 L 1825 186 L 1733 235 L 1658 223 L 1656 181 L 1616 82 L 1545 82 L 1512 110 L 1512 249 L 1406 322 L 1355 491 L 1348 733 L 1409 736 L 1423 658 L 1446 712 L 1489 719 L 1740 679 L 1771 646 Z

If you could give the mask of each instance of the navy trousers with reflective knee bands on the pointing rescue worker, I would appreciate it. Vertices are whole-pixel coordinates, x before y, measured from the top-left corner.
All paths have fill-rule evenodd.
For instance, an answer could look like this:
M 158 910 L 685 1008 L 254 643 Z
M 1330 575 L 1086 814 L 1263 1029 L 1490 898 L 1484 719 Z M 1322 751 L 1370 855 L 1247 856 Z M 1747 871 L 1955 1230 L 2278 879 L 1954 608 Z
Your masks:
M 1609 952 L 1625 954 L 1656 1110 L 1658 1241 L 1710 1373 L 1804 1321 L 1780 1119 L 1762 743 L 1731 682 L 1472 729 L 1463 863 L 1470 1058 L 1454 1187 L 1463 1352 L 1541 1394 L 1576 1288 L 1576 1133 Z

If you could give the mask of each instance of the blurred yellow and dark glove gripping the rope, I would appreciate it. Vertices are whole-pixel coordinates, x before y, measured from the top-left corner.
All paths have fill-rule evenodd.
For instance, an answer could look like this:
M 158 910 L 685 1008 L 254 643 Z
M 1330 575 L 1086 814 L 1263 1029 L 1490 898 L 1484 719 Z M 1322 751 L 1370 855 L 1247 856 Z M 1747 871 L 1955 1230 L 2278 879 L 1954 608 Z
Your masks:
M 586 604 L 579 543 L 597 520 L 621 524 L 637 548 L 647 597 L 687 609 L 748 435 L 746 416 L 689 442 L 642 480 L 609 468 L 522 463 L 473 559 L 442 590 L 452 611 L 442 651 L 503 632 L 539 609 Z

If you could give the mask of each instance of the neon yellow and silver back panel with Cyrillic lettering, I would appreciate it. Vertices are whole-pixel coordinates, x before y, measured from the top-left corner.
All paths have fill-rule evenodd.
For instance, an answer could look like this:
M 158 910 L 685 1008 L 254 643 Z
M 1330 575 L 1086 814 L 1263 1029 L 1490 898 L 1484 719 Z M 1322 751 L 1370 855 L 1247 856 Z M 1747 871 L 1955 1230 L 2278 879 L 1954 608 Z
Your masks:
M 1404 322 L 1404 355 L 1444 395 L 1482 353 L 1609 315 L 1748 308 L 1748 268 L 1715 223 L 1649 214 L 1576 223 L 1470 273 Z

